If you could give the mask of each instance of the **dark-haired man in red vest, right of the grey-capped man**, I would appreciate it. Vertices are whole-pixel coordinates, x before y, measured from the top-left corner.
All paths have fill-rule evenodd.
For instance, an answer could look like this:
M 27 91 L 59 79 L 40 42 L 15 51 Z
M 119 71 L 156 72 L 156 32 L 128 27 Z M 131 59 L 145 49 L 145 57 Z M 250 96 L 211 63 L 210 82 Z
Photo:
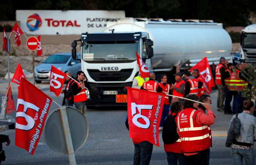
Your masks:
M 188 94 L 195 94 L 198 96 L 198 81 L 197 81 L 197 79 L 194 76 L 191 76 L 189 71 L 186 71 L 184 73 L 184 77 L 186 80 L 184 97 L 186 97 Z

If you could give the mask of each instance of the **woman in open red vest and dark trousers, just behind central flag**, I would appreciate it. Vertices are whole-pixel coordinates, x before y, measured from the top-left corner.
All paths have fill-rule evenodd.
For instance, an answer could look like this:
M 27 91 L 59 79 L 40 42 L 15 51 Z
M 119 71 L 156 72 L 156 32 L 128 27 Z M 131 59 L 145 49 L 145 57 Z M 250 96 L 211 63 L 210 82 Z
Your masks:
M 163 93 L 171 95 L 171 90 L 170 90 L 171 85 L 167 84 L 167 75 L 161 76 L 161 83 L 159 83 L 159 85 L 163 89 L 163 91 L 162 91 Z M 167 117 L 168 112 L 169 112 L 171 98 L 172 97 L 170 97 L 170 96 L 165 96 L 161 121 L 160 121 L 160 125 L 159 125 L 159 131 L 163 130 L 163 123 L 164 123 L 164 119 Z

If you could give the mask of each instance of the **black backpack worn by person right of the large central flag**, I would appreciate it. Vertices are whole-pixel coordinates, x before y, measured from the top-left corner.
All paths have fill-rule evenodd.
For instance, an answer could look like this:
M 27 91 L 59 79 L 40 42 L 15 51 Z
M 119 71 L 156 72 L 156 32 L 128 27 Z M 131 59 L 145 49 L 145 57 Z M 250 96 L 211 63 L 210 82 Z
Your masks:
M 164 120 L 163 132 L 162 132 L 162 138 L 163 138 L 164 144 L 172 144 L 179 139 L 179 135 L 177 133 L 177 125 L 175 122 L 176 116 L 177 114 L 172 116 L 172 113 L 171 113 Z

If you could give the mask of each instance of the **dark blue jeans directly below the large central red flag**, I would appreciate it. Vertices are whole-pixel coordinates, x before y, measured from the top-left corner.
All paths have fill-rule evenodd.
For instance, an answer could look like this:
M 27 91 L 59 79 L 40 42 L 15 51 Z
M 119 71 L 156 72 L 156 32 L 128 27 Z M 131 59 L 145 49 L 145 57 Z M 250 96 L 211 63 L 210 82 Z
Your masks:
M 148 165 L 153 151 L 153 144 L 142 141 L 134 144 L 133 165 Z

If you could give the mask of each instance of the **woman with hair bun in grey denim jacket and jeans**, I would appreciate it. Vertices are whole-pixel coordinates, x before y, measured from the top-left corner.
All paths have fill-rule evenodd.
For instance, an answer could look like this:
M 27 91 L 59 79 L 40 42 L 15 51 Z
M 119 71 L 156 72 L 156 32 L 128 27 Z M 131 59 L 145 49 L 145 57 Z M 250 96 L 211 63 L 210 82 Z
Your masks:
M 231 145 L 231 155 L 235 164 L 254 165 L 253 143 L 256 141 L 256 117 L 253 116 L 254 103 L 244 101 L 244 111 L 238 114 L 241 123 L 240 134 L 236 136 Z M 236 115 L 233 115 L 229 127 Z M 229 130 L 229 129 L 228 129 Z

